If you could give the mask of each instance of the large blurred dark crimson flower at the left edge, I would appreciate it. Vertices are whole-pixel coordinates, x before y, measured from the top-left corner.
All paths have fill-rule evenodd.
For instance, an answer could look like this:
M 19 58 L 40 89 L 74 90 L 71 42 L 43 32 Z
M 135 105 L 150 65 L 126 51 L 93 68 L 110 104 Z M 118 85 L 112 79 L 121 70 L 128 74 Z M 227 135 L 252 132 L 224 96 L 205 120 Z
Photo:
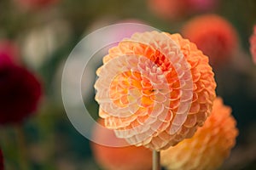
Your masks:
M 31 116 L 41 94 L 41 84 L 30 71 L 13 63 L 0 63 L 0 124 L 22 122 Z

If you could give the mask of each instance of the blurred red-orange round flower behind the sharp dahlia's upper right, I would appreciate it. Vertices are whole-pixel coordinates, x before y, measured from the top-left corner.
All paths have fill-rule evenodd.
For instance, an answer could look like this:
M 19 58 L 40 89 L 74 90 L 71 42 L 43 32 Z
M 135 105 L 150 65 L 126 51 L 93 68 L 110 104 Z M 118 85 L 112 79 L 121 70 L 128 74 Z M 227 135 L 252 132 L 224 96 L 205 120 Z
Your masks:
M 216 14 L 205 14 L 190 20 L 183 26 L 183 36 L 195 42 L 209 57 L 210 64 L 215 66 L 229 60 L 238 48 L 235 28 Z

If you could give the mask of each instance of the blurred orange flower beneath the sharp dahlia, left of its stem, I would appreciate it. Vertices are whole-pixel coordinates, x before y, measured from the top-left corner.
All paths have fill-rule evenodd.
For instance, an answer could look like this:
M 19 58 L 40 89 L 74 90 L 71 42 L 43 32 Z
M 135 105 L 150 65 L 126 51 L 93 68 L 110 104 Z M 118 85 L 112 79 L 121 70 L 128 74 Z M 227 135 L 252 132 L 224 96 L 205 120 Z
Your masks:
M 101 125 L 102 119 L 98 121 Z M 101 167 L 108 170 L 149 170 L 152 167 L 152 151 L 143 146 L 129 146 L 125 139 L 118 139 L 113 130 L 95 127 L 93 139 L 99 143 L 125 144 L 126 147 L 108 147 L 91 142 L 91 149 L 95 160 Z M 102 141 L 104 140 L 104 141 Z M 106 142 L 108 140 L 108 142 Z

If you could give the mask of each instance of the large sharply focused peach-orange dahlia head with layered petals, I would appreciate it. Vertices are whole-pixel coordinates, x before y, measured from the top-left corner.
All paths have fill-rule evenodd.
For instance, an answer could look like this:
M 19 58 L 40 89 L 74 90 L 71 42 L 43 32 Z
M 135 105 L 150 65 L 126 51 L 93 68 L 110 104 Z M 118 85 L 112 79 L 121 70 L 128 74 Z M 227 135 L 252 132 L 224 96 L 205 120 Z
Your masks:
M 109 49 L 96 74 L 105 126 L 151 150 L 192 137 L 216 97 L 207 56 L 179 34 L 135 33 Z

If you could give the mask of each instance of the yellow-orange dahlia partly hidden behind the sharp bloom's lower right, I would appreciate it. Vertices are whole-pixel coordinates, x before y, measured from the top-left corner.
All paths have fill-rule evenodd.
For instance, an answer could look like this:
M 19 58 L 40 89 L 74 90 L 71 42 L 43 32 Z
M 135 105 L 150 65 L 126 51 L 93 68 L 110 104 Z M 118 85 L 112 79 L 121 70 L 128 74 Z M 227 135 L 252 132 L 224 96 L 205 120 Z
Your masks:
M 213 102 L 212 114 L 191 139 L 161 151 L 161 165 L 172 170 L 213 170 L 220 167 L 236 144 L 236 120 L 221 98 Z

